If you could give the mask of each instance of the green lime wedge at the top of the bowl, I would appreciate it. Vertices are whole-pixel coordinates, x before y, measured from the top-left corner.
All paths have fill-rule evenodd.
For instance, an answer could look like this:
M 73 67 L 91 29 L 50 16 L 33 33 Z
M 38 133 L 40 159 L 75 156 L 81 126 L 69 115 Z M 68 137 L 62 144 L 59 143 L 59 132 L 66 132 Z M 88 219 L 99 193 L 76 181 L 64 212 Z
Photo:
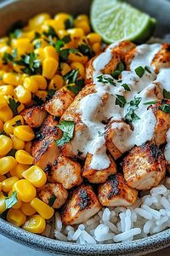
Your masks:
M 142 43 L 154 32 L 156 20 L 120 0 L 94 0 L 91 23 L 105 43 L 122 39 Z

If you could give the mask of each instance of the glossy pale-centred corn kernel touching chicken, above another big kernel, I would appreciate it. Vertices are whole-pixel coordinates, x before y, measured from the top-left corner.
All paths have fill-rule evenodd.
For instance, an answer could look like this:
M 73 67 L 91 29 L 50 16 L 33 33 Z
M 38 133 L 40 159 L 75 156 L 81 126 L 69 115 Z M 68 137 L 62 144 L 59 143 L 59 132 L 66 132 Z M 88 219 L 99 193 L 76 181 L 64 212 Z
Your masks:
M 22 173 L 22 176 L 37 188 L 42 187 L 47 182 L 45 172 L 38 166 L 31 166 Z

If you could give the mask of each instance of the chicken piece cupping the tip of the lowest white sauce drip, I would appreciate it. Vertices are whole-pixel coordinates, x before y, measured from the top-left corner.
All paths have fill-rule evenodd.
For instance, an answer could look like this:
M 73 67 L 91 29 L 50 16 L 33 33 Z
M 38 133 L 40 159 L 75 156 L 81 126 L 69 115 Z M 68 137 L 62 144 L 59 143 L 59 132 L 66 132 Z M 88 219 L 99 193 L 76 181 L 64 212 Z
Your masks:
M 94 170 L 90 167 L 90 163 L 92 160 L 93 155 L 88 154 L 86 157 L 85 165 L 82 171 L 82 177 L 88 178 L 90 183 L 105 183 L 107 178 L 111 174 L 116 173 L 116 163 L 115 161 L 109 156 L 111 160 L 111 165 L 105 170 Z

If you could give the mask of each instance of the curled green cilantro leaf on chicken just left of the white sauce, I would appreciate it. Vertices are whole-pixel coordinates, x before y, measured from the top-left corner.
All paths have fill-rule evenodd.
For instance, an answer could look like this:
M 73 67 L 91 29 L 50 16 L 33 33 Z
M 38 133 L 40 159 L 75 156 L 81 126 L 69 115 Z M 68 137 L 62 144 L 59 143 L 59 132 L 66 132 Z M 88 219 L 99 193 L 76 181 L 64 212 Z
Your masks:
M 74 122 L 61 120 L 57 127 L 63 131 L 63 136 L 55 141 L 56 145 L 63 146 L 65 143 L 69 143 L 74 134 Z

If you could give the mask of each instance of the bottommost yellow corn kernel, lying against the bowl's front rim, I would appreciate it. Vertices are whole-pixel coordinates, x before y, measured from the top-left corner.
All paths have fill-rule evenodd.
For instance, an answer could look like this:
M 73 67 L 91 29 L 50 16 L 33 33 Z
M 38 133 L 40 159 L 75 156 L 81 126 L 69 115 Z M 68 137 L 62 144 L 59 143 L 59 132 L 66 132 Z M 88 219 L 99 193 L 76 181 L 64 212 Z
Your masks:
M 22 226 L 24 230 L 35 234 L 41 234 L 45 230 L 45 227 L 45 219 L 38 214 L 31 216 L 31 218 L 28 218 L 26 223 Z

